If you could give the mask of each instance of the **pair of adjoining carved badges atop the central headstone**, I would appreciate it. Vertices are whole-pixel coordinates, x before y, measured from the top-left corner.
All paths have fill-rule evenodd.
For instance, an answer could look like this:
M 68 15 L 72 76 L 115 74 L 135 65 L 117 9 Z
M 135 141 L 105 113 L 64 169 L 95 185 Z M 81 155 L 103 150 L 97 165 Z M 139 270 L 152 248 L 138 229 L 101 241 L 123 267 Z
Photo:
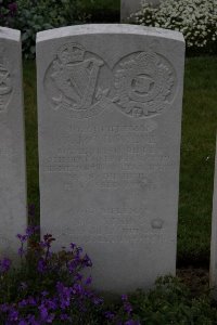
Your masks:
M 108 67 L 77 43 L 58 51 L 44 77 L 51 106 L 77 118 L 95 116 L 112 103 L 133 118 L 157 115 L 170 106 L 176 83 L 171 64 L 151 50 L 131 53 Z

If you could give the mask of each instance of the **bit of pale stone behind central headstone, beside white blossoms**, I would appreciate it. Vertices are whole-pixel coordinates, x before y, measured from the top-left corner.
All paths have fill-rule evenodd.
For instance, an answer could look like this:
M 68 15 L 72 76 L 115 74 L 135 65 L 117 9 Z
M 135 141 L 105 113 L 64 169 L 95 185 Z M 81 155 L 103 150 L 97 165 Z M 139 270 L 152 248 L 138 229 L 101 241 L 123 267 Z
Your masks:
M 149 3 L 157 5 L 159 0 L 149 0 Z M 120 21 L 126 22 L 132 13 L 141 9 L 141 0 L 122 0 L 120 3 Z

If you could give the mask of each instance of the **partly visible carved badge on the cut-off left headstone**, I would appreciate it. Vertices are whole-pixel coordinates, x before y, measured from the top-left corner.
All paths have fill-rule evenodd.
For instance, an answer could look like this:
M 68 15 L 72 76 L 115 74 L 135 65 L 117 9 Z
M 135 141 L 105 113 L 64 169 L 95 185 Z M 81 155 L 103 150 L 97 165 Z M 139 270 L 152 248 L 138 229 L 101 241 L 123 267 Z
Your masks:
M 0 53 L 0 113 L 5 112 L 12 94 L 10 68 L 3 54 Z

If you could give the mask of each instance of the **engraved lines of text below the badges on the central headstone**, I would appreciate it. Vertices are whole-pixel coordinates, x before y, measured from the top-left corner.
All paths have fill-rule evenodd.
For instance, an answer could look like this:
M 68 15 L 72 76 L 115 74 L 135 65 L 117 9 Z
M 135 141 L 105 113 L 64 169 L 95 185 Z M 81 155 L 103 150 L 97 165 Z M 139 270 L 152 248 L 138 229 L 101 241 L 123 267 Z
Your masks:
M 91 243 L 145 242 L 150 232 L 162 236 L 166 226 L 153 216 L 155 193 L 165 187 L 161 176 L 176 159 L 167 142 L 158 143 L 156 121 L 69 119 L 66 126 L 68 140 L 49 150 L 41 167 L 74 200 L 63 212 L 75 216 L 72 235 Z

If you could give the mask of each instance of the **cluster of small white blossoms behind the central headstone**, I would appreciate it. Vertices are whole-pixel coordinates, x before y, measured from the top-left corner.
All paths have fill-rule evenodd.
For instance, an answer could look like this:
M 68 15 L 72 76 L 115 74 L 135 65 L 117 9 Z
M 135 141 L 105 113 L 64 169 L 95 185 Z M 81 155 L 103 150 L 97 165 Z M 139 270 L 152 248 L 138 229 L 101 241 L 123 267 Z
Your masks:
M 139 25 L 181 31 L 190 49 L 217 41 L 217 0 L 161 0 L 157 8 L 143 0 L 130 18 Z

